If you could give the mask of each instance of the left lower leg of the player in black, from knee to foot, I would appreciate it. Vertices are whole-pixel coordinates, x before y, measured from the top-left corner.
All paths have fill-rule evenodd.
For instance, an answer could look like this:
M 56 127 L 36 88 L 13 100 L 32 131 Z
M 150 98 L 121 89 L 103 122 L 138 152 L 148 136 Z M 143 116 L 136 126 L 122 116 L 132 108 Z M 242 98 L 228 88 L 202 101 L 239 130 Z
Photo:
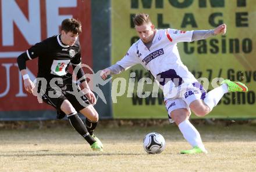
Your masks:
M 64 100 L 61 104 L 61 110 L 65 112 L 67 118 L 74 129 L 91 145 L 94 151 L 102 151 L 102 148 L 98 146 L 97 141 L 90 136 L 83 121 L 77 115 L 76 110 L 68 100 Z

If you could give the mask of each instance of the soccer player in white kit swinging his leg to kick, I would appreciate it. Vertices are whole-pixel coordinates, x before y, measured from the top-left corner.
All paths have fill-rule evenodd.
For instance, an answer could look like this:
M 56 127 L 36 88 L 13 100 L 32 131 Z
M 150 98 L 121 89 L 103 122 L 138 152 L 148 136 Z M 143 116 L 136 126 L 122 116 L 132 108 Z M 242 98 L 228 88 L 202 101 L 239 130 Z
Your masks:
M 243 83 L 226 79 L 221 82 L 221 86 L 206 93 L 180 60 L 177 43 L 225 34 L 226 24 L 219 25 L 214 30 L 157 30 L 148 14 L 144 13 L 136 14 L 133 22 L 140 39 L 131 45 L 122 60 L 102 70 L 102 79 L 111 74 L 119 74 L 135 64 L 143 65 L 163 89 L 170 122 L 176 123 L 193 147 L 180 153 L 207 153 L 200 134 L 189 121 L 190 110 L 197 116 L 205 116 L 218 104 L 223 94 L 247 92 L 248 88 Z

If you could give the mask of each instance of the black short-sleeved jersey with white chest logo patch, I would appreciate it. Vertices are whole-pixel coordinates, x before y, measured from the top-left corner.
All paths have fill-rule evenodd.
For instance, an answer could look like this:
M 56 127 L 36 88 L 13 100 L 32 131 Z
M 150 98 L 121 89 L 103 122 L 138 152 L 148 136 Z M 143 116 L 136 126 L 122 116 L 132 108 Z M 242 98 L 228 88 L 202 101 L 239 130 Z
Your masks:
M 79 39 L 73 46 L 68 46 L 61 42 L 61 35 L 55 35 L 36 43 L 26 53 L 29 59 L 38 57 L 37 77 L 48 81 L 56 77 L 65 78 L 69 64 L 81 64 Z

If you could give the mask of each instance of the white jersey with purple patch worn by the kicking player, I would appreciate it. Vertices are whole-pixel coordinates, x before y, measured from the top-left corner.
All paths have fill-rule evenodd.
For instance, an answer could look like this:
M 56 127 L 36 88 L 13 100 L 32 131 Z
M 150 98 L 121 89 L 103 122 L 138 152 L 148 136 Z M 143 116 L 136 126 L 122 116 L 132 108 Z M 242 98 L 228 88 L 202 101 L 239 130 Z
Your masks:
M 191 85 L 197 79 L 180 60 L 178 42 L 191 42 L 193 31 L 173 29 L 156 30 L 150 49 L 139 39 L 130 47 L 126 56 L 116 64 L 127 69 L 142 64 L 158 80 L 160 87 Z

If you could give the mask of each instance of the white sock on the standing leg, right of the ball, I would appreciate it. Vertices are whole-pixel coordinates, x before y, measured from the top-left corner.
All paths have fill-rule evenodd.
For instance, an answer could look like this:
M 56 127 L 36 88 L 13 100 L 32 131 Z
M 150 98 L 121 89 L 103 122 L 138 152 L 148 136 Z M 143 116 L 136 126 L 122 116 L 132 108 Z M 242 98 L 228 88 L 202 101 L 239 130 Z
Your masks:
M 204 144 L 202 144 L 201 136 L 197 129 L 190 123 L 188 119 L 179 124 L 179 129 L 182 131 L 183 137 L 189 142 L 192 147 L 200 147 L 202 151 L 207 152 Z

